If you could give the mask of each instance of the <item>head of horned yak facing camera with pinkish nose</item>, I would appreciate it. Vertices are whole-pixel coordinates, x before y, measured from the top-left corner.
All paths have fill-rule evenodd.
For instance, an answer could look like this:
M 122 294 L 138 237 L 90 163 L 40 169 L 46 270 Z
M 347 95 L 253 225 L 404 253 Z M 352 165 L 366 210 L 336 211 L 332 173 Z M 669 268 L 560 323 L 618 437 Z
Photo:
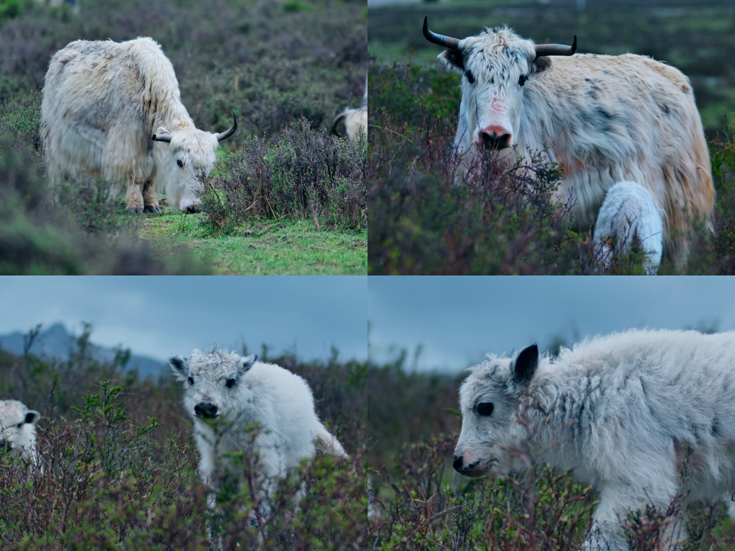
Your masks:
M 505 26 L 458 40 L 431 32 L 428 17 L 423 20 L 423 34 L 446 48 L 439 59 L 462 75 L 455 140 L 460 152 L 517 144 L 526 83 L 532 84 L 535 75 L 551 65 L 548 56 L 570 56 L 577 49 L 576 36 L 572 46 L 534 44 Z

